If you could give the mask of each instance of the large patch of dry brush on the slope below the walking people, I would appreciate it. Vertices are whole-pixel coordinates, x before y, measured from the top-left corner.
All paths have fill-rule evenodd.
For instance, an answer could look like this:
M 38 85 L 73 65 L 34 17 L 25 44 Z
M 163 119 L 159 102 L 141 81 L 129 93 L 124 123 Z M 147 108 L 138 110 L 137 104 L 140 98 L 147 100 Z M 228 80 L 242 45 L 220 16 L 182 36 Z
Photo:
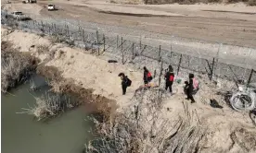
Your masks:
M 85 152 L 198 152 L 206 128 L 191 124 L 191 114 L 174 122 L 163 116 L 160 88 L 139 90 L 134 95 L 134 108 L 117 114 L 113 121 L 97 122 L 101 137 L 85 145 Z M 131 111 L 134 110 L 134 111 Z

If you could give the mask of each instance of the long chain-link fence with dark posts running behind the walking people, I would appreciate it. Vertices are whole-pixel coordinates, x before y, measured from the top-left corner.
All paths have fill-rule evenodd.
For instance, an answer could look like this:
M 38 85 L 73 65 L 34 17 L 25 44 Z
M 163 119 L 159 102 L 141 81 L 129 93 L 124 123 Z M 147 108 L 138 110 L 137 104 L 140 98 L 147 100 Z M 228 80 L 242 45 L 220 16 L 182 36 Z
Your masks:
M 7 18 L 7 12 L 1 11 L 1 24 L 8 27 L 15 27 L 24 31 L 29 31 L 39 35 L 50 35 L 55 41 L 66 42 L 72 46 L 79 47 L 84 52 L 110 53 L 112 58 L 124 64 L 134 64 L 137 68 L 146 65 L 148 68 L 155 70 L 154 76 L 161 74 L 162 67 L 173 65 L 177 75 L 181 71 L 196 72 L 199 74 L 208 75 L 212 80 L 220 77 L 236 82 L 250 83 L 256 82 L 256 74 L 251 65 L 237 66 L 224 63 L 220 56 L 201 57 L 197 51 L 193 55 L 178 52 L 180 44 L 172 43 L 170 49 L 144 44 L 140 41 L 128 41 L 125 37 L 117 35 L 116 37 L 107 36 L 96 29 L 83 29 L 81 23 L 77 25 L 70 24 L 65 20 L 28 20 L 18 21 Z M 191 50 L 187 48 L 187 50 Z M 248 51 L 248 50 L 247 50 Z M 212 51 L 213 52 L 213 51 Z M 215 53 L 228 52 L 228 49 L 214 51 Z M 252 55 L 251 51 L 246 53 Z M 223 55 L 223 54 L 222 54 Z M 247 56 L 246 56 L 247 57 Z M 221 61 L 221 62 L 220 62 Z M 226 60 L 228 61 L 228 60 Z M 246 58 L 245 58 L 246 61 Z M 250 68 L 249 68 L 250 67 Z

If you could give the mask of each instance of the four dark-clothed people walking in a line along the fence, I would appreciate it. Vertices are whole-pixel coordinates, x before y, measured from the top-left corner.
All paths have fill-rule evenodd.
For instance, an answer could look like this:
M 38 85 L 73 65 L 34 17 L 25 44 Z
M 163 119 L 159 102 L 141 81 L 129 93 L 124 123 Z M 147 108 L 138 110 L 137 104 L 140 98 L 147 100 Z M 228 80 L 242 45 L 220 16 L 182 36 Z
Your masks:
M 150 81 L 153 79 L 153 76 L 148 71 L 147 67 L 144 66 L 144 75 L 143 80 L 145 86 L 147 86 Z M 120 73 L 119 76 L 122 79 L 122 95 L 125 95 L 126 88 L 130 87 L 132 85 L 132 80 L 128 78 L 128 76 L 125 76 L 123 73 Z M 169 65 L 168 69 L 166 69 L 165 75 L 165 89 L 170 90 L 171 94 L 173 94 L 173 81 L 174 81 L 174 73 L 173 73 L 173 66 Z M 185 81 L 185 87 L 184 92 L 186 93 L 186 100 L 191 100 L 192 103 L 196 102 L 194 100 L 193 95 L 197 93 L 198 91 L 198 80 L 196 80 L 194 74 L 188 75 L 189 80 Z

